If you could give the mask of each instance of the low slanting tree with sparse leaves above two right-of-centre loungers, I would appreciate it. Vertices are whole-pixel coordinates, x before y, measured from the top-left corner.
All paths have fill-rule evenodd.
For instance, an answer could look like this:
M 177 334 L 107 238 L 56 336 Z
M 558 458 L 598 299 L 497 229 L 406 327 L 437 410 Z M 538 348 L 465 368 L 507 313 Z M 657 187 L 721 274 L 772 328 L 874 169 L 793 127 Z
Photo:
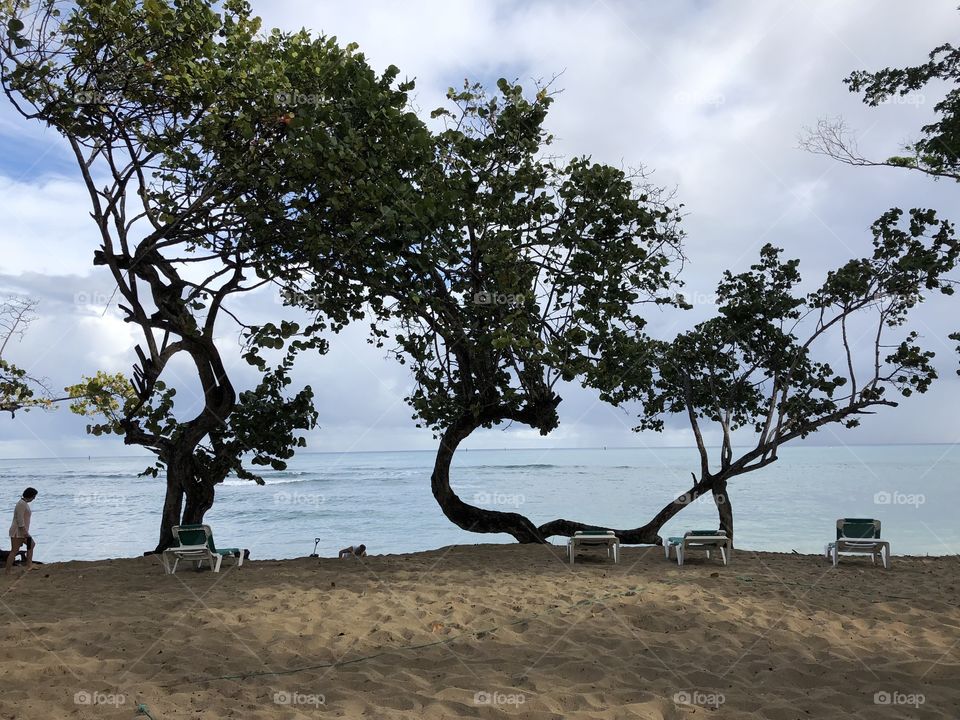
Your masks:
M 784 262 L 780 250 L 766 245 L 748 272 L 724 273 L 716 317 L 670 341 L 637 338 L 605 359 L 599 384 L 620 378 L 604 388 L 605 399 L 642 401 L 638 431 L 662 430 L 666 416 L 685 417 L 700 456 L 692 487 L 643 527 L 618 530 L 622 542 L 655 541 L 664 523 L 705 493 L 712 493 L 720 527 L 732 539 L 733 478 L 776 462 L 792 440 L 828 425 L 855 427 L 876 408 L 896 407 L 897 394 L 930 387 L 934 353 L 903 328 L 924 294 L 953 293 L 946 274 L 957 264 L 960 242 L 953 225 L 933 211 L 913 210 L 907 222 L 902 215 L 891 210 L 877 220 L 873 254 L 830 272 L 807 295 L 797 293 L 799 261 Z M 828 361 L 834 355 L 838 368 Z M 652 382 L 648 367 L 655 369 Z M 715 423 L 722 436 L 712 462 L 705 423 Z M 754 434 L 739 454 L 738 431 L 741 442 Z

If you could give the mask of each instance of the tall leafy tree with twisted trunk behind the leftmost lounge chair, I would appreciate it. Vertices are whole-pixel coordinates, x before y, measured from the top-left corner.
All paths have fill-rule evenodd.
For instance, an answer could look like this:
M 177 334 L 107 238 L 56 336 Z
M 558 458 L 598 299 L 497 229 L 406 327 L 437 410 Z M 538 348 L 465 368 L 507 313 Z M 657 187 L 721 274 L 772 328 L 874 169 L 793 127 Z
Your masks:
M 355 46 L 332 38 L 258 36 L 240 0 L 220 12 L 203 0 L 2 7 L 4 91 L 24 117 L 66 139 L 100 233 L 94 263 L 110 271 L 124 319 L 141 334 L 132 384 L 87 378 L 90 400 L 75 409 L 101 416 L 93 432 L 121 433 L 156 454 L 153 472 L 164 469 L 167 482 L 162 550 L 173 525 L 202 520 L 229 473 L 262 482 L 245 455 L 283 468 L 303 445 L 297 431 L 313 427 L 312 391 L 289 396 L 289 370 L 300 351 L 325 351 L 318 333 L 360 315 L 362 294 L 338 272 L 337 243 L 357 243 L 364 216 L 390 195 L 390 153 L 380 150 L 405 152 L 410 85 L 394 89 L 396 68 L 378 77 Z M 316 275 L 326 292 L 315 321 L 244 322 L 231 309 L 236 298 L 300 273 L 273 261 L 280 228 L 254 232 L 250 210 L 292 210 L 288 182 L 307 176 L 329 191 L 314 207 L 332 228 L 312 265 L 326 269 Z M 217 343 L 230 321 L 259 372 L 239 394 Z M 200 391 L 202 407 L 187 419 L 163 380 L 175 357 L 192 365 Z

